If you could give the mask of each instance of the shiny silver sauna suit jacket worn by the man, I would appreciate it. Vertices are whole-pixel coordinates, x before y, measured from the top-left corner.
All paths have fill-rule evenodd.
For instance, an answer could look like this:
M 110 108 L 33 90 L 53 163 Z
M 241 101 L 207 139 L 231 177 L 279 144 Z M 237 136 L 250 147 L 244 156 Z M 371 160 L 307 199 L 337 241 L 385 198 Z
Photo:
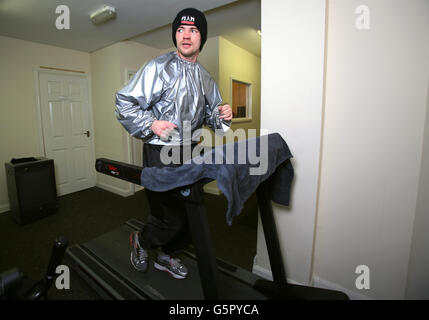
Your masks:
M 204 124 L 218 134 L 228 131 L 231 121 L 219 119 L 217 107 L 221 101 L 215 81 L 199 62 L 188 62 L 176 52 L 169 52 L 140 68 L 116 93 L 115 114 L 132 136 L 145 143 L 179 145 L 190 142 L 183 139 L 184 122 L 191 124 L 194 142 L 199 139 L 197 129 Z M 169 141 L 152 132 L 154 120 L 177 126 Z

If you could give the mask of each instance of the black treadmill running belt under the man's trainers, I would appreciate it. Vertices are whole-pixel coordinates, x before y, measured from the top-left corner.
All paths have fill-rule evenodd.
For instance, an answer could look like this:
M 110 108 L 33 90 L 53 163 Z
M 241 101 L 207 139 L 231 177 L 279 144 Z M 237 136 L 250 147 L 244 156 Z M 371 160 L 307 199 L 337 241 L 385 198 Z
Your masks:
M 68 254 L 74 260 L 79 260 L 77 264 L 80 265 L 81 270 L 84 269 L 87 270 L 86 273 L 97 274 L 95 281 L 104 290 L 111 291 L 112 288 L 117 288 L 119 283 L 119 289 L 114 289 L 114 294 L 110 292 L 114 298 L 130 299 L 130 295 L 134 295 L 132 297 L 134 299 L 204 299 L 198 265 L 190 257 L 184 256 L 182 258 L 189 271 L 188 277 L 183 280 L 174 279 L 167 272 L 155 269 L 153 266 L 155 257 L 153 256 L 151 256 L 146 273 L 134 269 L 130 262 L 129 244 L 130 233 L 134 230 L 125 224 L 83 245 L 69 248 Z M 100 272 L 100 269 L 103 269 L 104 272 Z M 103 273 L 104 276 L 102 276 Z M 126 290 L 121 288 L 122 286 Z M 219 272 L 219 288 L 223 299 L 266 299 L 264 295 L 253 290 L 249 285 L 222 272 Z M 127 292 L 127 294 L 121 292 Z

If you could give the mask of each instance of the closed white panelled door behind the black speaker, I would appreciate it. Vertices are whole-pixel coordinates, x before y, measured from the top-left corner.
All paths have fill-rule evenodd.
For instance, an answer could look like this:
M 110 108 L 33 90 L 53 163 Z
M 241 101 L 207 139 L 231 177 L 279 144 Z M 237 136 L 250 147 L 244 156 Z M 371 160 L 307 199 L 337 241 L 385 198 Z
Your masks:
M 58 195 L 93 187 L 87 79 L 40 72 L 39 90 L 45 154 L 54 160 Z

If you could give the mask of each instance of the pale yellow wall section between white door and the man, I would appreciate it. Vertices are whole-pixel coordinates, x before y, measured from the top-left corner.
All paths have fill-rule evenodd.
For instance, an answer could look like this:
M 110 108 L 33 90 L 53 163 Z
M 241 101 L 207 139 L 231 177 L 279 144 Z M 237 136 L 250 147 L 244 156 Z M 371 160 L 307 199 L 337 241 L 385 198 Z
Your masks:
M 115 93 L 127 82 L 127 70 L 137 71 L 160 54 L 160 50 L 132 41 L 91 53 L 96 158 L 132 162 L 129 134 L 115 117 Z M 133 193 L 131 183 L 99 173 L 97 186 L 124 196 Z

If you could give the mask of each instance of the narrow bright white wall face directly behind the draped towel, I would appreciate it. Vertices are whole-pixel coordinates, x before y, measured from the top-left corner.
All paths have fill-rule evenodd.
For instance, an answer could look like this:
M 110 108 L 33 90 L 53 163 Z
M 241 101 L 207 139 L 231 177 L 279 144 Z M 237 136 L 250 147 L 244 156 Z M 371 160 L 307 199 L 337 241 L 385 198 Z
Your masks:
M 308 283 L 319 175 L 325 1 L 262 0 L 261 130 L 278 132 L 294 155 L 290 208 L 274 205 L 288 277 Z M 269 269 L 258 230 L 254 271 Z

